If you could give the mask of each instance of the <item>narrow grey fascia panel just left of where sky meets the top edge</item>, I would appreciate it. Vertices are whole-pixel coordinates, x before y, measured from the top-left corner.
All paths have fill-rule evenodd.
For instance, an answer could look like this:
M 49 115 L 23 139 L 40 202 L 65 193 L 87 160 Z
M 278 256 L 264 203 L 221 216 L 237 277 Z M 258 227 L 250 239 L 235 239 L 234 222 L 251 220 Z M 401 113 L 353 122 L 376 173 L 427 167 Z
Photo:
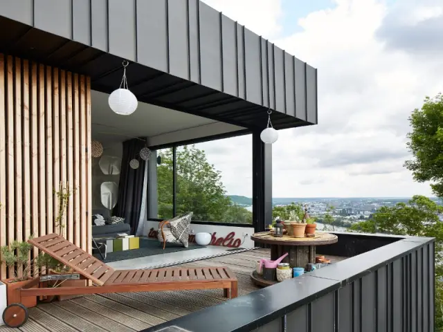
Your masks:
M 188 0 L 190 80 L 200 82 L 199 0 Z

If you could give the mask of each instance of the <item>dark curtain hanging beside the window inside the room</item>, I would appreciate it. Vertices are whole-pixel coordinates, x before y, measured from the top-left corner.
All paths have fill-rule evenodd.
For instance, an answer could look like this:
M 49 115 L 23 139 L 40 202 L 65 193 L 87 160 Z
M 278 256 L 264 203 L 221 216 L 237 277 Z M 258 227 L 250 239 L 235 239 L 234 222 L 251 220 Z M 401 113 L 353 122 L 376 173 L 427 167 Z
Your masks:
M 131 225 L 131 234 L 135 234 L 137 230 L 141 213 L 146 161 L 140 158 L 138 154 L 143 147 L 145 147 L 145 142 L 136 138 L 123 142 L 118 201 L 114 208 L 114 216 L 125 218 L 125 223 Z M 129 161 L 134 158 L 140 163 L 138 169 L 129 166 Z

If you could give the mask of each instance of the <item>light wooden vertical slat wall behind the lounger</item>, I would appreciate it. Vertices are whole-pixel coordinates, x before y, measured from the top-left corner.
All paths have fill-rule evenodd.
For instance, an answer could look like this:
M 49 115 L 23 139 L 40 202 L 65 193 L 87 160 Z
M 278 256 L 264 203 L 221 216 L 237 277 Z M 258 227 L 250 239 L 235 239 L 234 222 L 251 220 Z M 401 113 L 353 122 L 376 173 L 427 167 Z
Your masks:
M 59 232 L 62 181 L 75 190 L 63 235 L 91 252 L 90 89 L 84 75 L 0 54 L 0 246 Z M 11 273 L 1 265 L 0 279 Z

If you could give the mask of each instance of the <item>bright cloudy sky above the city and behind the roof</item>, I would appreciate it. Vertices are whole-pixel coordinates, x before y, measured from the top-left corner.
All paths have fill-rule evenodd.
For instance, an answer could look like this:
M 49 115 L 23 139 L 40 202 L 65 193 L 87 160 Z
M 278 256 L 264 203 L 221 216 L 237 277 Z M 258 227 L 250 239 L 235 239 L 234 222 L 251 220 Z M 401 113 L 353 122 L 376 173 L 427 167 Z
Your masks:
M 408 116 L 443 92 L 443 0 L 203 1 L 318 68 L 318 124 L 279 131 L 274 197 L 432 196 L 403 165 Z M 250 136 L 198 146 L 251 196 Z

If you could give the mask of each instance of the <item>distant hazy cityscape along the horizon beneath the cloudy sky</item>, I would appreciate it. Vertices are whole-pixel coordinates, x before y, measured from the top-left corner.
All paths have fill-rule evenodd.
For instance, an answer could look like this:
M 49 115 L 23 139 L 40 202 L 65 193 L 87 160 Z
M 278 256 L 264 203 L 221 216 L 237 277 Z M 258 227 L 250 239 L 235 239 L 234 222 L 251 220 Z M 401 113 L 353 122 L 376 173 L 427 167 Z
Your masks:
M 230 199 L 237 205 L 242 205 L 244 208 L 252 211 L 252 199 L 245 196 L 230 195 Z M 442 201 L 437 198 L 431 198 L 440 205 Z M 397 203 L 407 203 L 410 197 L 356 197 L 356 198 L 274 198 L 272 200 L 273 206 L 288 205 L 291 203 L 298 203 L 307 205 L 308 213 L 314 216 L 321 223 L 325 214 L 328 213 L 330 207 L 334 208 L 331 214 L 338 228 L 347 228 L 358 221 L 369 219 L 374 212 L 379 210 L 382 206 L 393 206 Z

